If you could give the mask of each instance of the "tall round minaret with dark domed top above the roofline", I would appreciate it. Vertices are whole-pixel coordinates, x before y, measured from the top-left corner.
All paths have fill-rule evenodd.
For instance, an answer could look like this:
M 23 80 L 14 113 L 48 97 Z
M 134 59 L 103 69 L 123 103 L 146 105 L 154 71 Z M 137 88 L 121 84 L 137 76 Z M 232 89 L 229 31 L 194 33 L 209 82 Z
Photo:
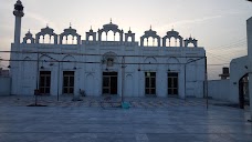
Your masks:
M 14 23 L 14 43 L 20 43 L 20 36 L 21 36 L 21 18 L 24 16 L 23 13 L 23 6 L 20 0 L 17 1 L 14 4 L 13 14 L 15 16 L 15 23 Z

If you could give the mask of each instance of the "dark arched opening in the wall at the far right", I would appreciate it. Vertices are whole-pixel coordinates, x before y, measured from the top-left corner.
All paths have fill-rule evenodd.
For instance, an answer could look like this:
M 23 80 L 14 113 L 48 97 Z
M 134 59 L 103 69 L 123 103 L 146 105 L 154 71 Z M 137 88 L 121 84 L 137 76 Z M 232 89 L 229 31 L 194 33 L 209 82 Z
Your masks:
M 239 80 L 239 104 L 240 109 L 244 109 L 245 105 L 250 105 L 248 73 Z

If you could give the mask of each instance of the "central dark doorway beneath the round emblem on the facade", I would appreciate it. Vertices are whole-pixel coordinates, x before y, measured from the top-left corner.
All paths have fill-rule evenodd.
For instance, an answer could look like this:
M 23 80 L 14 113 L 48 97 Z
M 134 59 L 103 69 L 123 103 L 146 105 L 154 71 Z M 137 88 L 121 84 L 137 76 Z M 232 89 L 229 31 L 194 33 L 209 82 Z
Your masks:
M 103 94 L 117 94 L 117 72 L 103 72 Z

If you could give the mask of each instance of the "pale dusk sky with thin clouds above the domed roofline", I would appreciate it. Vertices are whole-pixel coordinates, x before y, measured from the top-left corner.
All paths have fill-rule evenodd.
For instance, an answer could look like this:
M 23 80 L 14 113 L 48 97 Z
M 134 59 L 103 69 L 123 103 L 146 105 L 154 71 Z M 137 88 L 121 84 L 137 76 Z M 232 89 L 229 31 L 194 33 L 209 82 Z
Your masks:
M 0 0 L 0 51 L 10 51 L 14 34 L 13 4 Z M 164 37 L 172 28 L 183 39 L 196 38 L 208 58 L 208 77 L 220 79 L 223 67 L 232 59 L 246 55 L 246 19 L 252 17 L 252 2 L 246 0 L 21 0 L 24 6 L 21 39 L 30 29 L 33 36 L 46 24 L 60 34 L 70 23 L 85 40 L 91 27 L 116 23 L 136 33 L 146 30 Z M 1 59 L 9 54 L 0 53 Z M 0 62 L 0 68 L 8 67 Z

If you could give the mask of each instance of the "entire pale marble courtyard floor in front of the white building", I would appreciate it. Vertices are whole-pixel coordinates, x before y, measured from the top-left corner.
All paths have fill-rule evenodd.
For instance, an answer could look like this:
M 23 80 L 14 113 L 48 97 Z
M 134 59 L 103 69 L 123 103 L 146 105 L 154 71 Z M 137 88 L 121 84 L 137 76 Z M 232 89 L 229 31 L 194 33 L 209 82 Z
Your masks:
M 0 98 L 1 142 L 251 142 L 248 109 L 204 99 Z

